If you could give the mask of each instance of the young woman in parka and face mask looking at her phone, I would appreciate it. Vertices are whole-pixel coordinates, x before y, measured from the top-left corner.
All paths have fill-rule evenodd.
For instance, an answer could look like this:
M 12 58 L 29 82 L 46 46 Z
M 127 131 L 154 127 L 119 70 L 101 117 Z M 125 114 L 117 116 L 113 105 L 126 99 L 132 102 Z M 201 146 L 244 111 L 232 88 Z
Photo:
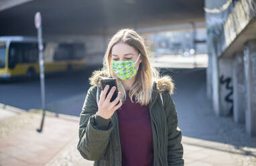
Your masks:
M 117 81 L 109 94 L 109 86 L 100 87 L 103 78 Z M 84 159 L 94 165 L 184 165 L 172 78 L 151 67 L 143 39 L 133 29 L 112 37 L 103 69 L 92 73 L 90 84 L 77 145 Z M 115 90 L 118 96 L 110 102 Z

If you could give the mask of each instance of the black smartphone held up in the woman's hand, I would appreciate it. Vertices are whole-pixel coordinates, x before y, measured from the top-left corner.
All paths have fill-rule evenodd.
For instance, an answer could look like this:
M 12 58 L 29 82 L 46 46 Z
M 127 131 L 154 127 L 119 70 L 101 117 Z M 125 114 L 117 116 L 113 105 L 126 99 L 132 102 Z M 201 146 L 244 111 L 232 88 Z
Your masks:
M 109 85 L 109 90 L 107 91 L 107 95 L 109 94 L 109 92 L 113 86 L 116 87 L 115 92 L 110 100 L 111 102 L 113 102 L 113 100 L 115 100 L 115 98 L 117 98 L 117 95 L 118 95 L 117 82 L 116 82 L 115 78 L 104 78 L 104 79 L 101 79 L 100 82 L 101 82 L 102 90 L 104 90 L 105 86 Z M 119 102 L 117 104 L 119 104 Z

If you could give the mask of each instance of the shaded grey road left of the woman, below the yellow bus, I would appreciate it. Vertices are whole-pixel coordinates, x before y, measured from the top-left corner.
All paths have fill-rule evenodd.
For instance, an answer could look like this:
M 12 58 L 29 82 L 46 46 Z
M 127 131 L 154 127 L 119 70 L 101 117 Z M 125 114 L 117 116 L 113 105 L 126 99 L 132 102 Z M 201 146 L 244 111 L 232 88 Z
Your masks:
M 88 90 L 88 77 L 93 70 L 90 67 L 71 74 L 52 74 L 46 76 L 46 105 L 82 94 Z M 40 80 L 20 79 L 11 82 L 0 82 L 0 102 L 24 110 L 41 108 Z

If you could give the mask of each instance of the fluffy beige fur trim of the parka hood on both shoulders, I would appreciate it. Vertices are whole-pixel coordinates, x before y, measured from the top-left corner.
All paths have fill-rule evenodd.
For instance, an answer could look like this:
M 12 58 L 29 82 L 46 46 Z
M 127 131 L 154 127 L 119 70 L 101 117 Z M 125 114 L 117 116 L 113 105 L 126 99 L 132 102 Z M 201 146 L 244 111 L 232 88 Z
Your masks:
M 100 86 L 100 80 L 102 78 L 111 78 L 106 71 L 103 70 L 95 70 L 92 72 L 92 76 L 90 76 L 90 85 L 91 86 Z M 170 94 L 174 92 L 174 82 L 170 76 L 160 76 L 156 80 L 154 80 L 156 84 L 157 92 L 168 91 Z

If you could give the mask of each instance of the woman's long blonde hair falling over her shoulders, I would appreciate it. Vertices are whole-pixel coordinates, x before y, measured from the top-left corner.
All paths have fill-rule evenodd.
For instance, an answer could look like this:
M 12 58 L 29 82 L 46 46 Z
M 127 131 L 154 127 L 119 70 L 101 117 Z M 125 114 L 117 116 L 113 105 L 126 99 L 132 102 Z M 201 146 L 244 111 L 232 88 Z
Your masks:
M 105 52 L 102 70 L 117 80 L 117 88 L 122 92 L 122 100 L 124 101 L 127 95 L 125 88 L 111 66 L 111 51 L 113 46 L 119 42 L 128 44 L 141 54 L 142 62 L 139 64 L 139 69 L 135 75 L 135 82 L 129 91 L 129 97 L 131 102 L 133 102 L 133 96 L 135 96 L 135 102 L 138 102 L 141 106 L 146 106 L 151 100 L 153 81 L 159 78 L 159 72 L 149 62 L 143 38 L 133 29 L 120 29 L 113 35 Z

